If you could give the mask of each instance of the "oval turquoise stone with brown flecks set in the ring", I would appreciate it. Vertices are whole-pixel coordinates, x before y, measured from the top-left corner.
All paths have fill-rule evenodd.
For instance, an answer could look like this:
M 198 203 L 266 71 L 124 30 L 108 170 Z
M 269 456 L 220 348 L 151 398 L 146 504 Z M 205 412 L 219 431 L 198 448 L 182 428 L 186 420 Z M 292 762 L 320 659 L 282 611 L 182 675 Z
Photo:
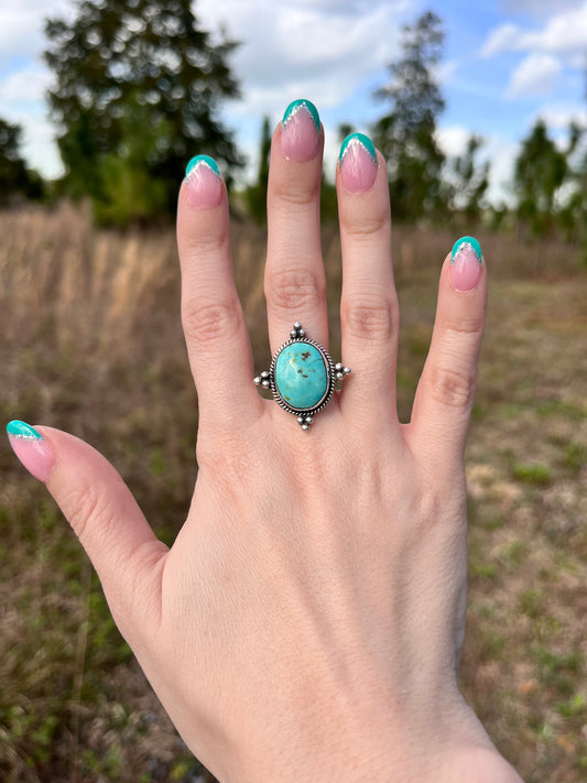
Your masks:
M 275 385 L 282 400 L 298 411 L 315 407 L 328 391 L 326 360 L 309 342 L 292 342 L 275 362 Z

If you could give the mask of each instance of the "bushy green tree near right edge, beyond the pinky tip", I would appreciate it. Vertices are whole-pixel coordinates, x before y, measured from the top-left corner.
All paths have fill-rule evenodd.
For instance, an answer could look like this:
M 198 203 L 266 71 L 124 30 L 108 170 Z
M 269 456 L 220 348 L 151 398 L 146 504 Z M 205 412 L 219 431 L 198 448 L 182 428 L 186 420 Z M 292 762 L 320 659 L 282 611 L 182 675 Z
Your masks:
M 554 230 L 558 195 L 567 174 L 566 153 L 548 137 L 544 120 L 536 120 L 522 141 L 513 175 L 518 218 L 535 237 L 544 237 Z

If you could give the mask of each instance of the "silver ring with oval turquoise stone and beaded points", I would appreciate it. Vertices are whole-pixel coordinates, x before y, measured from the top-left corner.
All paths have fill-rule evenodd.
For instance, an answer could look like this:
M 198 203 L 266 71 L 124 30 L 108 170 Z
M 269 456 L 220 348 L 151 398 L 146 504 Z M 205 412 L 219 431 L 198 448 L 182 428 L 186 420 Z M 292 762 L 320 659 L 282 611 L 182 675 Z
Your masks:
M 271 389 L 273 399 L 307 431 L 315 414 L 330 402 L 337 381 L 349 372 L 350 367 L 335 365 L 324 346 L 306 337 L 296 320 L 290 339 L 278 348 L 271 367 L 257 376 L 254 383 Z

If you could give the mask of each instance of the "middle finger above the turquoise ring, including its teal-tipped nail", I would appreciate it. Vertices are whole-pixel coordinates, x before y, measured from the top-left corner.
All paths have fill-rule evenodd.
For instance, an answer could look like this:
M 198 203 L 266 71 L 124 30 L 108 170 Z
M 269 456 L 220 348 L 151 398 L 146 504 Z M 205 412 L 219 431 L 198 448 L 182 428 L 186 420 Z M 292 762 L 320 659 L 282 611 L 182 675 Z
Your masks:
M 291 104 L 275 129 L 268 186 L 265 298 L 271 351 L 300 322 L 328 345 L 326 283 L 320 250 L 324 133 L 308 100 Z

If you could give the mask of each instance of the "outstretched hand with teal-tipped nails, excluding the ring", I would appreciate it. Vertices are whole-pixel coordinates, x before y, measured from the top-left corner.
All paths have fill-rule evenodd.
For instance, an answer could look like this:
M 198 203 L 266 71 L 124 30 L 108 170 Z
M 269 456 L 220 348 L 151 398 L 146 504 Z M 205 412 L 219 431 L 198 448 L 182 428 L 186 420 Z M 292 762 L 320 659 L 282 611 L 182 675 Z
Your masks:
M 328 345 L 316 118 L 297 105 L 273 138 L 272 351 L 296 320 Z M 176 542 L 156 540 L 90 446 L 17 424 L 11 442 L 87 550 L 178 731 L 222 783 L 519 781 L 457 686 L 463 452 L 486 264 L 475 241 L 445 259 L 412 421 L 400 424 L 385 163 L 366 138 L 344 150 L 340 318 L 352 374 L 309 432 L 252 383 L 226 188 L 214 162 L 197 159 L 177 239 L 199 472 Z

